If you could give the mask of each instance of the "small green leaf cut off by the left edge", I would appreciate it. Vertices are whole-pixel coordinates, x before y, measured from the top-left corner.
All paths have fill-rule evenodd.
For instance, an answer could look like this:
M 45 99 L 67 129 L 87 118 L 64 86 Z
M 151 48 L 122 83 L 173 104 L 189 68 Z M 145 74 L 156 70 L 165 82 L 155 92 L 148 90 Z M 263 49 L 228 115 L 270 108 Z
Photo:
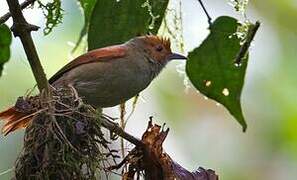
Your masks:
M 0 76 L 2 74 L 4 63 L 9 60 L 10 46 L 11 44 L 11 32 L 5 25 L 0 25 Z

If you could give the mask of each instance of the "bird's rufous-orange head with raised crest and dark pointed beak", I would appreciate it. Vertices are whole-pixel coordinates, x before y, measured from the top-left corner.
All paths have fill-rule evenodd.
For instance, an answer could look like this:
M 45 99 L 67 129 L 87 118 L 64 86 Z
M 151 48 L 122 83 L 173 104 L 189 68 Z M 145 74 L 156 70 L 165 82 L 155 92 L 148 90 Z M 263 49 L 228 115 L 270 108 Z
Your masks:
M 149 58 L 158 64 L 165 65 L 174 59 L 187 59 L 187 57 L 171 51 L 169 39 L 147 35 L 137 37 L 135 40 L 142 44 L 142 48 Z

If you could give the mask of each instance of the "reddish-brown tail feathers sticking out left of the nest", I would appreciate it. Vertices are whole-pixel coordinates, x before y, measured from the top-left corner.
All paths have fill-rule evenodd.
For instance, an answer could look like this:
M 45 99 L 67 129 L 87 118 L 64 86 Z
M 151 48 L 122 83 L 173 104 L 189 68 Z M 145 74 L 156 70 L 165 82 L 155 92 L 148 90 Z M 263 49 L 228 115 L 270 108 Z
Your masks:
M 11 107 L 6 111 L 0 112 L 0 120 L 5 120 L 6 123 L 2 128 L 2 133 L 7 134 L 20 129 L 25 128 L 31 121 L 33 114 L 19 112 L 15 107 Z

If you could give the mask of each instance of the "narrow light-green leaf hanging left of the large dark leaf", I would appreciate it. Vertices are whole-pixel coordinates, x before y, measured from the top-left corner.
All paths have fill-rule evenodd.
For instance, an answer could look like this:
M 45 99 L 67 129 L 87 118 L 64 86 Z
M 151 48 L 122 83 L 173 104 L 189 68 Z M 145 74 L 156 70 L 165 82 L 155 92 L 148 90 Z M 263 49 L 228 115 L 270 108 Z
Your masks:
M 73 51 L 76 50 L 76 48 L 79 46 L 79 44 L 81 43 L 83 37 L 87 34 L 88 29 L 89 29 L 89 24 L 90 24 L 90 18 L 94 9 L 94 6 L 97 2 L 97 0 L 78 0 L 80 3 L 80 6 L 82 8 L 83 14 L 84 14 L 84 21 L 85 24 L 82 28 L 82 30 L 80 31 L 80 35 L 79 38 L 76 42 L 75 47 L 73 48 Z

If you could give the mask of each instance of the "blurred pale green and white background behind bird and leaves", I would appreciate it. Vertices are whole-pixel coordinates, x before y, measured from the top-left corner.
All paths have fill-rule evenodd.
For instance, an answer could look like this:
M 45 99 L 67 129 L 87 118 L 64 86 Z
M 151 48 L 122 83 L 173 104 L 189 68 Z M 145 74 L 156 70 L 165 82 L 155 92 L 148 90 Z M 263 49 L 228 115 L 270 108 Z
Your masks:
M 48 77 L 72 59 L 72 44 L 83 25 L 76 1 L 63 2 L 63 24 L 48 36 L 42 31 L 33 33 Z M 241 17 L 228 1 L 208 0 L 205 5 L 213 19 L 220 15 Z M 5 0 L 0 0 L 0 12 L 0 16 L 7 12 Z M 207 36 L 207 19 L 196 0 L 183 0 L 182 12 L 185 51 L 190 51 Z M 40 10 L 28 9 L 25 15 L 29 22 L 44 27 Z M 170 64 L 141 94 L 127 130 L 140 137 L 153 115 L 155 121 L 166 122 L 171 129 L 166 152 L 190 170 L 212 168 L 223 180 L 295 180 L 297 1 L 250 1 L 247 15 L 252 21 L 260 20 L 262 26 L 250 51 L 242 94 L 246 133 L 222 106 L 185 87 L 184 77 L 177 72 L 179 63 Z M 12 57 L 0 78 L 0 109 L 13 105 L 16 97 L 33 85 L 20 41 L 14 39 Z M 106 112 L 117 116 L 118 108 Z M 2 172 L 13 167 L 22 138 L 23 131 L 0 136 L 0 180 L 11 177 L 11 171 Z

